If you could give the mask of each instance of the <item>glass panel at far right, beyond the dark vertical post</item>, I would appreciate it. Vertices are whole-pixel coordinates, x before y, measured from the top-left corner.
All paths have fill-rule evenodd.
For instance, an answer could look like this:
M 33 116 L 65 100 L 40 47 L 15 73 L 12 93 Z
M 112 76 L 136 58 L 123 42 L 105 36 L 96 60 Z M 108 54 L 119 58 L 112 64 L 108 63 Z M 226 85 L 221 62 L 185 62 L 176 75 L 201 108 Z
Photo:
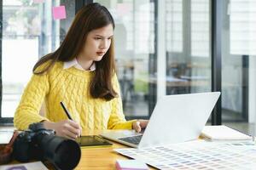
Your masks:
M 253 134 L 256 114 L 256 2 L 224 1 L 222 43 L 222 120 Z

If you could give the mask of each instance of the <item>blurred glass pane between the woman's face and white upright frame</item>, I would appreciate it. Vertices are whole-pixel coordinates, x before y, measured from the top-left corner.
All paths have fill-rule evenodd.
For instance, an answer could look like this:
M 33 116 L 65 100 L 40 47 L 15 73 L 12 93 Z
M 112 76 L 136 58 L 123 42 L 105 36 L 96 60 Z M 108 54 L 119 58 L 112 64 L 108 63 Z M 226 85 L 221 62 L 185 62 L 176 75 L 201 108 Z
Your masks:
M 154 55 L 154 2 L 94 1 L 115 21 L 115 59 L 125 116 L 147 117 L 149 58 Z

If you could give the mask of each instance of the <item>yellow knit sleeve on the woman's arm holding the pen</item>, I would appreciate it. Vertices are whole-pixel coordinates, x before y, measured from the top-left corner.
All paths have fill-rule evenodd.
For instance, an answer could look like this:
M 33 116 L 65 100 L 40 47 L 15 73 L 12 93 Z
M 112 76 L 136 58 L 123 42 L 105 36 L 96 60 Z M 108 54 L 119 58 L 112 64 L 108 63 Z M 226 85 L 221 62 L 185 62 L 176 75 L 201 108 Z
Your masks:
M 20 104 L 15 111 L 14 124 L 20 130 L 26 129 L 33 122 L 48 120 L 39 115 L 46 94 L 49 93 L 48 73 L 32 75 L 30 82 L 20 99 Z

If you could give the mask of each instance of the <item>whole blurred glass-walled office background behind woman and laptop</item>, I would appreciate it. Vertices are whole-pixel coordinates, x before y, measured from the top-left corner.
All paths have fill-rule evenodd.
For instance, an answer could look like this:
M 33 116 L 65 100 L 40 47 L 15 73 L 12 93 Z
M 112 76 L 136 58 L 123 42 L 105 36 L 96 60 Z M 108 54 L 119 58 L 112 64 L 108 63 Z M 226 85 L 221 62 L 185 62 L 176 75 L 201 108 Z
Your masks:
M 221 90 L 208 123 L 250 131 L 256 114 L 256 0 L 3 0 L 1 123 L 12 122 L 32 66 L 60 45 L 76 11 L 91 2 L 102 3 L 115 20 L 127 119 L 148 118 L 166 94 Z M 51 8 L 60 5 L 67 19 L 53 20 Z

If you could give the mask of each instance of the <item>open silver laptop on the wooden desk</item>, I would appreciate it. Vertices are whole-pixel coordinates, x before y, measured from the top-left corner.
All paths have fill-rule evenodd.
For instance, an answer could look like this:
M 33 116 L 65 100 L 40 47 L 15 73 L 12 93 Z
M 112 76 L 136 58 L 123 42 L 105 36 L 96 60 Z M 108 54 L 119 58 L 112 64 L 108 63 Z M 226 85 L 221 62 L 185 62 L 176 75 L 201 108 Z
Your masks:
M 220 92 L 175 94 L 160 98 L 143 133 L 108 130 L 101 136 L 134 148 L 174 144 L 197 139 Z

